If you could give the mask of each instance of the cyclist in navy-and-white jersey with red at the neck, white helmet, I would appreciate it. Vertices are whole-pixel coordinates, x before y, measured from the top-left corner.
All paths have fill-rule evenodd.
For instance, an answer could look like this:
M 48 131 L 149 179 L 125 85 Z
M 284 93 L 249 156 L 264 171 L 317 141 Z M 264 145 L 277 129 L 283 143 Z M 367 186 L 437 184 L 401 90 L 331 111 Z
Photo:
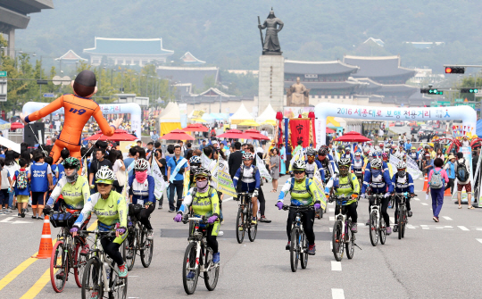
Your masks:
M 145 209 L 139 212 L 139 221 L 147 228 L 147 239 L 154 238 L 153 227 L 149 216 L 155 209 L 154 178 L 147 174 L 149 162 L 138 159 L 134 162 L 134 174 L 129 177 L 130 203 L 140 203 Z

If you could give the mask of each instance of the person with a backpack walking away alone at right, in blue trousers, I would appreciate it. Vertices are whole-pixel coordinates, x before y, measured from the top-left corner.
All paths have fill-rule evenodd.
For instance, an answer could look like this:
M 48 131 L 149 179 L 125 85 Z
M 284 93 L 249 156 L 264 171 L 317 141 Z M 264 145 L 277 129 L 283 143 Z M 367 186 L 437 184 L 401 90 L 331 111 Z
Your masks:
M 434 213 L 432 219 L 436 222 L 438 222 L 438 214 L 440 210 L 442 210 L 442 204 L 444 204 L 445 184 L 449 181 L 447 173 L 442 169 L 442 166 L 444 166 L 444 161 L 436 158 L 434 161 L 434 169 L 428 173 L 427 195 L 428 192 L 432 195 L 432 212 Z

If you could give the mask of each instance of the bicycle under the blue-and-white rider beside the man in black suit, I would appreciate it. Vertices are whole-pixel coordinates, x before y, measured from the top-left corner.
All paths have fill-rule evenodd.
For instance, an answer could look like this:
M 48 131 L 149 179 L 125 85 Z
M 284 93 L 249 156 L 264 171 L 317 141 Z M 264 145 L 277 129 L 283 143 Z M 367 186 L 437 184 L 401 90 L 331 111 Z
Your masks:
M 237 243 L 243 243 L 246 230 L 248 231 L 249 240 L 254 242 L 258 232 L 258 223 L 256 222 L 255 225 L 251 224 L 251 217 L 253 215 L 253 203 L 251 202 L 251 195 L 249 192 L 238 193 L 237 201 L 239 201 L 236 219 Z

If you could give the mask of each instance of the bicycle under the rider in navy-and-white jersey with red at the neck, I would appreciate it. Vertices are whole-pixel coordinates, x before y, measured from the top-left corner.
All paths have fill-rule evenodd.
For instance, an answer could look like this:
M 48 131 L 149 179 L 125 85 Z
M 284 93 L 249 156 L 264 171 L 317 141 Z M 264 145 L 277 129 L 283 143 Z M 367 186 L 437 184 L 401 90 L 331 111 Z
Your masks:
M 154 240 L 147 239 L 147 228 L 138 220 L 139 212 L 144 209 L 141 204 L 129 204 L 130 222 L 128 225 L 129 235 L 122 245 L 122 258 L 126 262 L 128 270 L 134 268 L 137 250 L 144 268 L 148 268 L 153 259 Z M 149 218 L 151 218 L 149 216 Z

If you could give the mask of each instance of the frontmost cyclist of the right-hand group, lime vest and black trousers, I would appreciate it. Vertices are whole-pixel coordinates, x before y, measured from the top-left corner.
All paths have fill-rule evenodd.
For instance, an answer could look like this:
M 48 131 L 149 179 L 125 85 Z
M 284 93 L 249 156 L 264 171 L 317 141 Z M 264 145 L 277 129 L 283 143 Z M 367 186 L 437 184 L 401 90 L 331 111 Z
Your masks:
M 306 163 L 303 160 L 297 160 L 293 163 L 294 178 L 287 180 L 285 185 L 281 188 L 281 192 L 278 196 L 278 209 L 283 208 L 283 200 L 288 194 L 291 195 L 291 205 L 314 205 L 315 211 L 320 210 L 320 193 L 315 187 L 312 179 L 306 176 Z M 314 255 L 316 252 L 315 247 L 315 235 L 313 232 L 313 223 L 315 217 L 315 211 L 304 211 L 303 214 L 303 228 L 304 233 L 308 239 L 308 254 Z M 290 210 L 287 219 L 287 250 L 290 247 L 290 234 L 291 225 L 293 224 L 293 218 L 295 217 L 295 210 Z

